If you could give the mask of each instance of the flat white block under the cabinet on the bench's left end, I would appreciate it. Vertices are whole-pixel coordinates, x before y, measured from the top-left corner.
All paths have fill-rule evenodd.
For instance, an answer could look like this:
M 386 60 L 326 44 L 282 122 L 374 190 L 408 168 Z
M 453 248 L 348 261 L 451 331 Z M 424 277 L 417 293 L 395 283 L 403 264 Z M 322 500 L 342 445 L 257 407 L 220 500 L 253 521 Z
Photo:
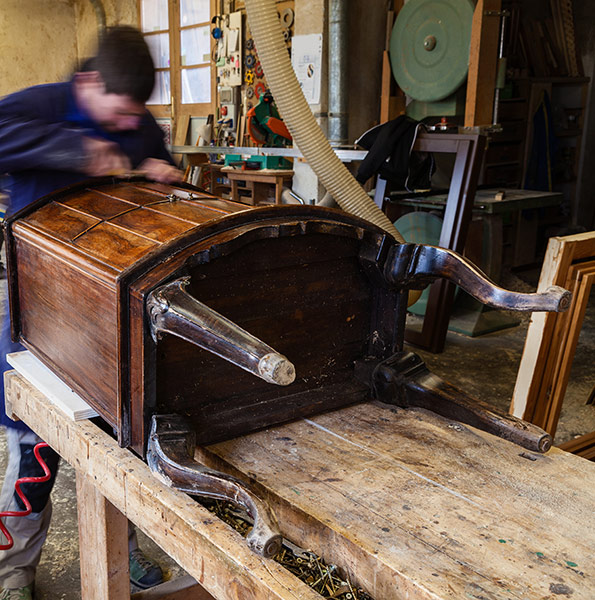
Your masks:
M 8 364 L 73 421 L 98 416 L 94 409 L 28 350 L 8 354 L 6 359 Z

